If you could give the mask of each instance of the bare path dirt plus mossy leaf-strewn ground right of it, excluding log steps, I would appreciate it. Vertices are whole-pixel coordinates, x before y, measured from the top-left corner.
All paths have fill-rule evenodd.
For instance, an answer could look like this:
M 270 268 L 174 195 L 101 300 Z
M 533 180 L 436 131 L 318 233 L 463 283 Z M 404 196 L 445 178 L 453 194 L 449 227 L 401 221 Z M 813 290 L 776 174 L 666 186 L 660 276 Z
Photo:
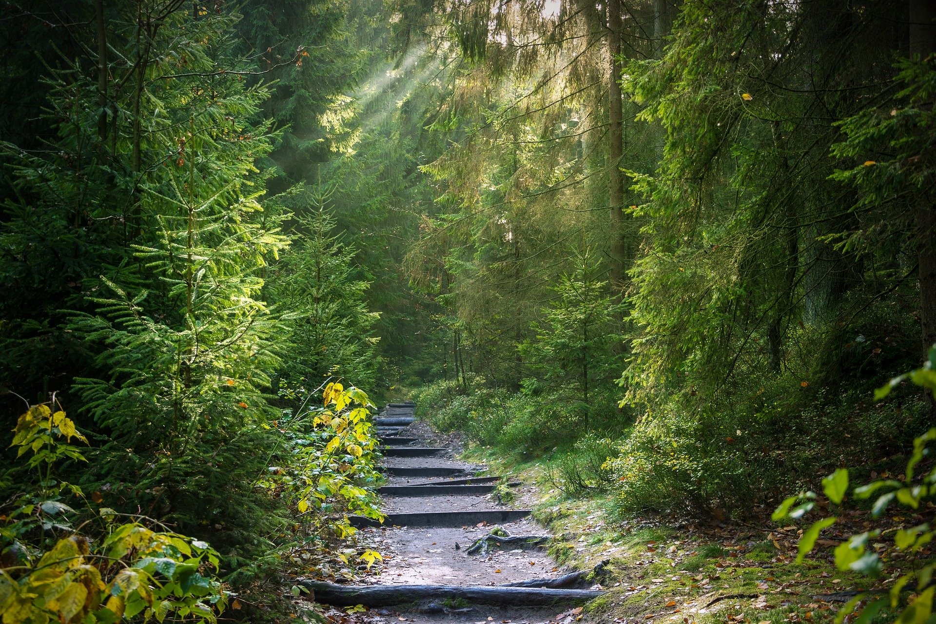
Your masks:
M 510 463 L 485 450 L 461 454 L 458 436 L 436 434 L 424 423 L 410 426 L 401 435 L 431 440 L 432 446 L 446 448 L 443 455 L 448 457 L 388 457 L 388 466 L 460 467 L 509 475 L 520 485 L 499 487 L 488 496 L 386 497 L 388 513 L 504 509 L 505 504 L 533 509 L 532 517 L 502 526 L 511 534 L 549 535 L 548 551 L 495 549 L 486 556 L 467 555 L 467 547 L 490 531 L 484 523 L 364 529 L 359 542 L 384 557 L 379 573 L 368 576 L 366 583 L 494 586 L 592 570 L 605 562 L 602 573 L 588 584 L 607 591 L 579 607 L 503 608 L 440 601 L 360 612 L 352 608 L 351 613 L 332 609 L 329 618 L 336 624 L 812 624 L 832 621 L 841 605 L 867 583 L 857 575 L 837 571 L 832 564 L 830 549 L 841 543 L 841 536 L 821 540 L 826 554 L 797 565 L 797 527 L 622 518 L 607 497 L 564 497 L 542 461 Z M 388 477 L 388 485 L 427 481 L 444 483 L 446 479 Z

